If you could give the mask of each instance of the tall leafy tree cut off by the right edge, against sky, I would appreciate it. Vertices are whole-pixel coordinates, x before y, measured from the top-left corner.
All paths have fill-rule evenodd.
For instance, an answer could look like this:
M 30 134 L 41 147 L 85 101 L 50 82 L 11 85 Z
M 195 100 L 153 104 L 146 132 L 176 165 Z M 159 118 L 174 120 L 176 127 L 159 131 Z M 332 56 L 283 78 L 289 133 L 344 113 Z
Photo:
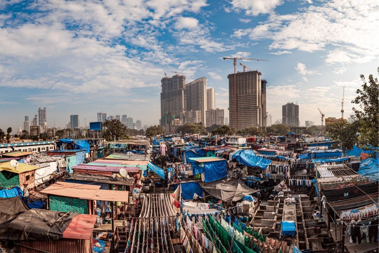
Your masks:
M 379 68 L 377 71 L 379 74 Z M 364 144 L 377 147 L 379 143 L 379 82 L 373 75 L 368 76 L 368 83 L 364 75 L 360 75 L 360 79 L 363 81 L 362 90 L 357 89 L 356 93 L 359 95 L 351 101 L 359 105 L 359 108 L 353 107 L 352 110 L 360 124 L 360 140 Z

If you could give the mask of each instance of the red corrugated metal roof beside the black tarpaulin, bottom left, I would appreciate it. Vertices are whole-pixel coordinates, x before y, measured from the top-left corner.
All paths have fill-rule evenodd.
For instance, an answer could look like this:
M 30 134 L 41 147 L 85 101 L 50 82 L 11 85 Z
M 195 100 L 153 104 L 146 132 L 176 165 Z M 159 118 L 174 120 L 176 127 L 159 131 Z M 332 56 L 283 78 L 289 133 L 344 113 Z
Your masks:
M 75 216 L 64 230 L 63 238 L 91 239 L 96 218 L 96 215 L 90 214 L 79 214 Z

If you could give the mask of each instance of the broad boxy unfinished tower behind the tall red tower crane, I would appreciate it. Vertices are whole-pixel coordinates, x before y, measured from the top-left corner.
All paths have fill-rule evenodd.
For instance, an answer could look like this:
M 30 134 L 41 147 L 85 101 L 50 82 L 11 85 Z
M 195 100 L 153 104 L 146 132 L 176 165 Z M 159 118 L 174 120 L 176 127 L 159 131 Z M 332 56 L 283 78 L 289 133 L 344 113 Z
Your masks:
M 234 74 L 229 74 L 228 79 L 229 125 L 236 130 L 243 130 L 249 126 L 263 126 L 261 73 L 236 73 L 236 85 Z

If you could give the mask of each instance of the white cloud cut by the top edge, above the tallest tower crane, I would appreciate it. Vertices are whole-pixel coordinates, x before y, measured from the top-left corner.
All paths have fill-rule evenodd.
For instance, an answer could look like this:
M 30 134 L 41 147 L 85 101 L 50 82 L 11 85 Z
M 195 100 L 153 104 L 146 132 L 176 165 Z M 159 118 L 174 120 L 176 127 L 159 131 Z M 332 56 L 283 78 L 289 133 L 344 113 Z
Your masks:
M 232 8 L 236 11 L 245 10 L 246 15 L 257 16 L 271 13 L 283 0 L 232 0 Z

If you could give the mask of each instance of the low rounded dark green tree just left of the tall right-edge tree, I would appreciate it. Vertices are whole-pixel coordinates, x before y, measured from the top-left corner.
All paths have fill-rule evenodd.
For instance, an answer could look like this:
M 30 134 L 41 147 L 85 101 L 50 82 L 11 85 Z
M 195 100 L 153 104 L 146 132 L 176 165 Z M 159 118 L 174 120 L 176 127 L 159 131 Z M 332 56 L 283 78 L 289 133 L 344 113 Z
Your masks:
M 342 143 L 343 150 L 352 149 L 353 143 L 358 140 L 359 122 L 336 122 L 326 125 L 325 131 L 333 141 Z

